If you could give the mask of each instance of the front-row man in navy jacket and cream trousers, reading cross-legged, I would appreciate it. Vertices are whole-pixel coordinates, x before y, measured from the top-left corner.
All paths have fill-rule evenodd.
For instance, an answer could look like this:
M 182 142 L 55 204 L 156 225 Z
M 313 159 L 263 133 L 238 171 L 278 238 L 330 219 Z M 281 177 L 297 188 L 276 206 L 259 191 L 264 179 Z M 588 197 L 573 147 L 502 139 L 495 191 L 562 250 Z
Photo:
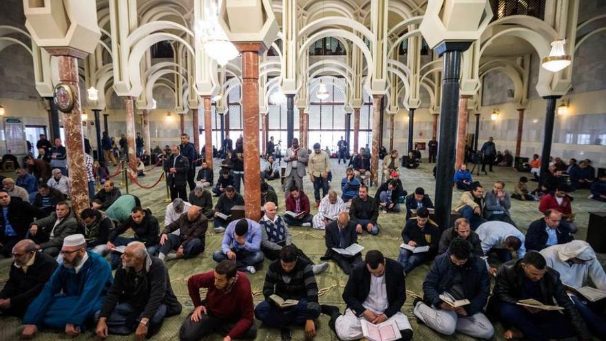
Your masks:
M 436 258 L 423 282 L 423 293 L 413 311 L 427 327 L 445 335 L 458 331 L 472 338 L 492 338 L 494 328 L 483 313 L 490 293 L 486 264 L 472 254 L 466 240 L 452 240 L 448 252 Z M 470 304 L 454 308 L 441 300 L 442 295 Z

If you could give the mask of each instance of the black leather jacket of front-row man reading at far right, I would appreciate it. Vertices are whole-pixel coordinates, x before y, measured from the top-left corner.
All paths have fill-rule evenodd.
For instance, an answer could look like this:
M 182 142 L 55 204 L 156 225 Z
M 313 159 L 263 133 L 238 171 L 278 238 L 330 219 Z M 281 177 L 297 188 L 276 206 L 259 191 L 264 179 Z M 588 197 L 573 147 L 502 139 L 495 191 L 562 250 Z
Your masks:
M 521 298 L 523 280 L 526 275 L 520 262 L 521 260 L 510 260 L 499 268 L 497 280 L 492 289 L 492 296 L 488 303 L 488 309 L 490 311 L 496 310 L 499 302 L 516 304 Z M 543 294 L 541 302 L 543 302 L 543 304 L 553 305 L 555 299 L 555 302 L 557 302 L 560 307 L 564 308 L 563 312 L 567 319 L 572 323 L 572 327 L 574 327 L 577 336 L 582 340 L 592 340 L 589 331 L 587 331 L 585 321 L 564 290 L 558 271 L 547 267 L 547 272 L 545 273 L 545 276 L 539 280 L 539 285 L 541 287 L 541 293 Z

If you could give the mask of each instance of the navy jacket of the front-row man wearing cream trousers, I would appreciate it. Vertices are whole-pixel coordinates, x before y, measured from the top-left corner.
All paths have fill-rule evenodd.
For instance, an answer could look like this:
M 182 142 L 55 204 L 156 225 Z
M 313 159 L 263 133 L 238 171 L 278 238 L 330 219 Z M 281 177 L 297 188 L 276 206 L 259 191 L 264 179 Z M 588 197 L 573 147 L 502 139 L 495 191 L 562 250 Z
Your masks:
M 453 285 L 454 271 L 463 271 L 461 287 L 465 298 L 471 302 L 464 309 L 469 316 L 481 312 L 488 300 L 490 280 L 486 262 L 478 256 L 470 256 L 461 269 L 452 264 L 450 252 L 437 257 L 423 282 L 424 302 L 430 307 L 439 307 L 442 302 L 440 294 L 448 291 Z

